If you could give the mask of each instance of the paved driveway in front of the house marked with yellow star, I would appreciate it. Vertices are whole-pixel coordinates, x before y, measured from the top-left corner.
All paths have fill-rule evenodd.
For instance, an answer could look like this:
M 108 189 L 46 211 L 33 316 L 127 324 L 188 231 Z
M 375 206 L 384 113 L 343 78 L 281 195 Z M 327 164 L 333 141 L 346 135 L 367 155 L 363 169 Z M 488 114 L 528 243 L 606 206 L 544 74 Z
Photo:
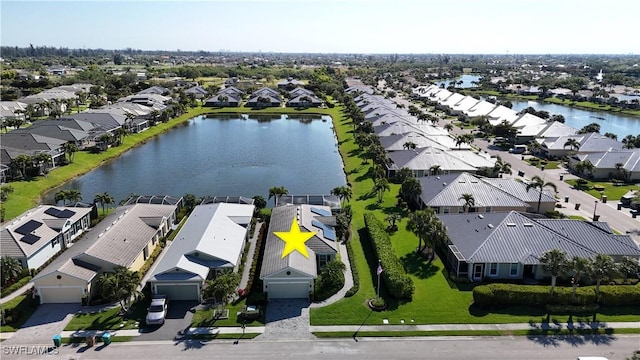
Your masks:
M 267 305 L 265 331 L 257 338 L 315 339 L 309 331 L 309 301 L 274 299 Z

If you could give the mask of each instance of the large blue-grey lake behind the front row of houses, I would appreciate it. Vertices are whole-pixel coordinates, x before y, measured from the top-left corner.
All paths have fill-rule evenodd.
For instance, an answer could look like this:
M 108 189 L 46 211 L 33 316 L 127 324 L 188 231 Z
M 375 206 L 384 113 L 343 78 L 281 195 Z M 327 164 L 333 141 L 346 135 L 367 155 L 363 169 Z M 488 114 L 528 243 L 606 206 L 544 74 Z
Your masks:
M 82 201 L 108 192 L 268 198 L 269 188 L 290 194 L 329 194 L 346 184 L 329 116 L 198 116 L 44 196 L 77 189 Z M 270 201 L 272 203 L 272 201 Z

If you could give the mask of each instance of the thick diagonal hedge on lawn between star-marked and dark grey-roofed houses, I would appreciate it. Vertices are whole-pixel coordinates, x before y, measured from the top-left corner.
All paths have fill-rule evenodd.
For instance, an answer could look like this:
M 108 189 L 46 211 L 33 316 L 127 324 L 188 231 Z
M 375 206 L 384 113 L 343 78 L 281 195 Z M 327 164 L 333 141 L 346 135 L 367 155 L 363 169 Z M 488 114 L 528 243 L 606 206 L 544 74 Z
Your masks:
M 384 224 L 371 213 L 364 214 L 364 223 L 373 251 L 384 269 L 381 277 L 387 292 L 397 299 L 411 299 L 415 289 L 413 281 L 398 260 Z

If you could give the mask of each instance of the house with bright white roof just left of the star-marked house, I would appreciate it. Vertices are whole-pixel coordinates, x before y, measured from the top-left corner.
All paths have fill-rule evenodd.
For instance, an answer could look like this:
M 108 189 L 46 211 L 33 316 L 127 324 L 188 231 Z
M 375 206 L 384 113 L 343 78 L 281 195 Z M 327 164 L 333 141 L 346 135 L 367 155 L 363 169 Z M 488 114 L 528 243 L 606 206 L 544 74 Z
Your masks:
M 210 272 L 237 271 L 253 205 L 198 205 L 166 250 L 148 283 L 171 300 L 200 300 Z

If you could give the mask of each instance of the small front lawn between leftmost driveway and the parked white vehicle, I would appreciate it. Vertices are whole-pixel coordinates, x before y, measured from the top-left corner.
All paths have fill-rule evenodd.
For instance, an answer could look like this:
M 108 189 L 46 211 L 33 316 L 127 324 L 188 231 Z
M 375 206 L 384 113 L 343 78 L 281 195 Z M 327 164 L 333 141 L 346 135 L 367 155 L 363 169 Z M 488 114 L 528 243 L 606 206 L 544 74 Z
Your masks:
M 76 314 L 64 328 L 66 331 L 77 330 L 119 330 L 137 329 L 138 324 L 144 324 L 146 307 L 143 303 L 134 306 L 131 316 L 122 317 L 119 315 L 120 308 L 113 308 L 106 311 L 98 311 L 88 314 Z

